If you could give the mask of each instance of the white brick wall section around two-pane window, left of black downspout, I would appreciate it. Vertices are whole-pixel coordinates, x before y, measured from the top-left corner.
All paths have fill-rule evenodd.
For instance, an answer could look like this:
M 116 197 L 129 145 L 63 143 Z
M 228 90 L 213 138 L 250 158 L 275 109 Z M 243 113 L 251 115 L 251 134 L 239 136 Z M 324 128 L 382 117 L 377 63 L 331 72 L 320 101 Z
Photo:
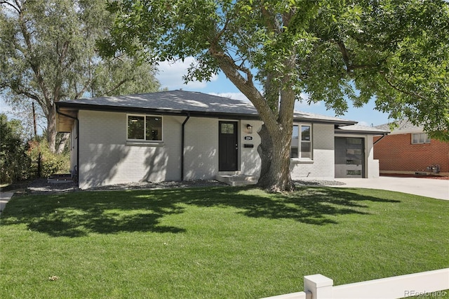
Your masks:
M 126 113 L 79 112 L 79 187 L 180 179 L 181 124 L 163 117 L 161 146 L 126 145 Z

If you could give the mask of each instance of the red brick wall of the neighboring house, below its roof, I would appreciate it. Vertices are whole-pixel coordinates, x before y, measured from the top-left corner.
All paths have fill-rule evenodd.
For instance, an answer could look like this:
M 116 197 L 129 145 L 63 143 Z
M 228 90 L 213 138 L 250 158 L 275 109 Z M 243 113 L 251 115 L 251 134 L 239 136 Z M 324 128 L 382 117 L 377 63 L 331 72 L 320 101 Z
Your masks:
M 428 166 L 439 164 L 441 173 L 449 173 L 449 142 L 431 140 L 413 145 L 411 140 L 410 133 L 387 135 L 374 146 L 381 172 L 427 172 Z

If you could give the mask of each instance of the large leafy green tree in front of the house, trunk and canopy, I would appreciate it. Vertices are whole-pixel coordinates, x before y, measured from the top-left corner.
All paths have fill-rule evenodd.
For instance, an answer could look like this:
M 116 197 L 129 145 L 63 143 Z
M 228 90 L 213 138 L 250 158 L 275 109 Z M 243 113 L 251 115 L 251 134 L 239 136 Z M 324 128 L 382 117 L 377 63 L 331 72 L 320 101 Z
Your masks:
M 121 0 L 104 55 L 196 58 L 185 80 L 219 69 L 264 122 L 259 185 L 292 190 L 293 107 L 301 93 L 341 114 L 375 97 L 440 138 L 449 127 L 449 7 L 443 0 Z M 263 91 L 257 90 L 257 84 Z

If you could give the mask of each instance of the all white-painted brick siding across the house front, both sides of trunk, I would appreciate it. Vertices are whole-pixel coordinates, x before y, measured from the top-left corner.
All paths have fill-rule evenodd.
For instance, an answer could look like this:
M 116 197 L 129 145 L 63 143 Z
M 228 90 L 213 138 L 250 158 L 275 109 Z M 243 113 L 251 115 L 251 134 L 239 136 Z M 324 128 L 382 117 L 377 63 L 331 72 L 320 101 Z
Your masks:
M 163 116 L 163 142 L 142 145 L 126 142 L 126 112 L 79 111 L 79 187 L 85 189 L 138 181 L 180 180 L 181 129 L 186 116 Z M 184 179 L 213 179 L 218 173 L 218 125 L 222 119 L 190 117 L 185 124 Z M 235 120 L 234 120 L 235 121 Z M 246 133 L 246 126 L 253 133 Z M 239 121 L 239 171 L 259 175 L 262 121 Z M 251 136 L 252 140 L 245 140 Z M 345 135 L 346 136 L 346 135 Z M 360 136 L 359 136 L 360 137 Z M 373 138 L 366 138 L 368 178 L 378 175 L 373 161 Z M 333 180 L 335 176 L 335 131 L 333 124 L 312 125 L 313 159 L 292 161 L 294 180 Z M 157 142 L 156 142 L 157 143 Z M 244 147 L 244 145 L 253 147 Z M 76 148 L 72 149 L 76 153 Z M 76 159 L 72 159 L 72 166 Z M 377 168 L 376 168 L 377 165 Z

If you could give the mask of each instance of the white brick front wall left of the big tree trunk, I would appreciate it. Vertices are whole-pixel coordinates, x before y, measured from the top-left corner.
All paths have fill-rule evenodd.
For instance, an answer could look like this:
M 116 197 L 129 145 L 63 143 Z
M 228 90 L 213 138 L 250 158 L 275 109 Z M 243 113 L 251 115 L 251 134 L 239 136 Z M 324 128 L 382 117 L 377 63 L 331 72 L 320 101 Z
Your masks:
M 160 145 L 138 145 L 126 142 L 126 113 L 79 111 L 79 187 L 125 182 L 180 180 L 181 128 L 186 117 L 163 116 L 163 142 Z M 213 179 L 218 173 L 219 119 L 191 117 L 185 124 L 184 179 Z M 246 124 L 253 133 L 245 134 Z M 260 158 L 256 133 L 260 121 L 241 121 L 239 137 L 252 135 L 253 148 L 239 149 L 241 170 L 258 174 Z

